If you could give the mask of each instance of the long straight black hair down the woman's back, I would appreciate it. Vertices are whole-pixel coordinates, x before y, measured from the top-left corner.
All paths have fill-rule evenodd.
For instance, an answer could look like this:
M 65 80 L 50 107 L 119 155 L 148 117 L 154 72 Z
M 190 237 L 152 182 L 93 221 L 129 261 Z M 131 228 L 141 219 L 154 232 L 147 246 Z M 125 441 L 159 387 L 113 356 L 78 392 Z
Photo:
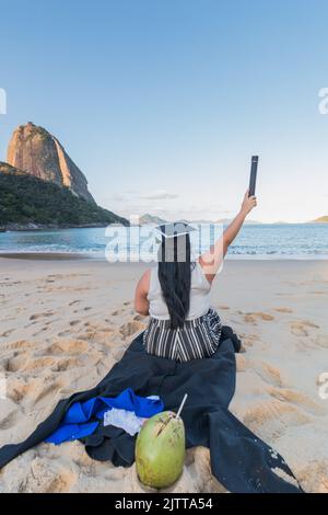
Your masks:
M 172 329 L 180 328 L 189 311 L 194 266 L 189 234 L 162 238 L 159 250 L 159 281 Z

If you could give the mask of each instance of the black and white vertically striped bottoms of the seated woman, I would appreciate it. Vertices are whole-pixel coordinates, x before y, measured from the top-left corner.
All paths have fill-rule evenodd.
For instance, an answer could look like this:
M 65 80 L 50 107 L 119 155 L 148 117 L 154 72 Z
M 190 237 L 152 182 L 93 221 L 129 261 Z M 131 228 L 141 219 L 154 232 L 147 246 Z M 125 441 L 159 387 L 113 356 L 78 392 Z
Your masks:
M 221 331 L 221 319 L 212 308 L 199 318 L 186 320 L 178 329 L 171 329 L 169 320 L 151 317 L 143 345 L 149 354 L 189 362 L 211 356 L 218 350 Z

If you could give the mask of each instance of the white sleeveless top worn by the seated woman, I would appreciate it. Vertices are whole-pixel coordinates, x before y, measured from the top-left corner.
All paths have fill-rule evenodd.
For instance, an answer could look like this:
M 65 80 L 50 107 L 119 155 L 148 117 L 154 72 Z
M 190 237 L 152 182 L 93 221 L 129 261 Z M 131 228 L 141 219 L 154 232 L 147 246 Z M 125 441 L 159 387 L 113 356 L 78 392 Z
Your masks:
M 190 308 L 186 320 L 192 320 L 207 313 L 211 307 L 210 302 L 211 285 L 206 278 L 204 273 L 198 261 L 191 270 L 191 289 Z M 159 268 L 151 270 L 149 293 L 149 313 L 151 317 L 160 320 L 169 320 L 169 313 L 162 295 L 162 288 L 159 281 Z

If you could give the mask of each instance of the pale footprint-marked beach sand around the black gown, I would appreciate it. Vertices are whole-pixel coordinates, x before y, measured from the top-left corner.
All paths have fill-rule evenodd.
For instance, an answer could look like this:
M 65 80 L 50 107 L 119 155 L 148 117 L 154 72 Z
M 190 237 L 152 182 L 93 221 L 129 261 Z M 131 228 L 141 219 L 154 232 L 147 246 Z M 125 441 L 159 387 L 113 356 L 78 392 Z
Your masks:
M 28 258 L 0 258 L 0 446 L 97 384 L 147 323 L 132 305 L 144 265 Z M 244 346 L 231 411 L 282 454 L 306 492 L 328 493 L 327 300 L 327 261 L 226 261 L 212 291 Z M 143 491 L 134 466 L 93 461 L 79 442 L 42 444 L 0 471 L 0 492 Z M 169 491 L 224 492 L 207 449 L 187 451 Z

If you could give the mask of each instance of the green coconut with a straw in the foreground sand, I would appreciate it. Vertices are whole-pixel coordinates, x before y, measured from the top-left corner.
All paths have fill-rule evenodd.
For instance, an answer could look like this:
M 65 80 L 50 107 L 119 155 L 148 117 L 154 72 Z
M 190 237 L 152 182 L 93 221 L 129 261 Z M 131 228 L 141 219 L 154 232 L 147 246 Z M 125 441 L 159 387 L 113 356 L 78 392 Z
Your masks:
M 183 420 L 172 411 L 149 419 L 137 438 L 136 466 L 140 481 L 152 488 L 167 488 L 181 474 L 186 453 Z

